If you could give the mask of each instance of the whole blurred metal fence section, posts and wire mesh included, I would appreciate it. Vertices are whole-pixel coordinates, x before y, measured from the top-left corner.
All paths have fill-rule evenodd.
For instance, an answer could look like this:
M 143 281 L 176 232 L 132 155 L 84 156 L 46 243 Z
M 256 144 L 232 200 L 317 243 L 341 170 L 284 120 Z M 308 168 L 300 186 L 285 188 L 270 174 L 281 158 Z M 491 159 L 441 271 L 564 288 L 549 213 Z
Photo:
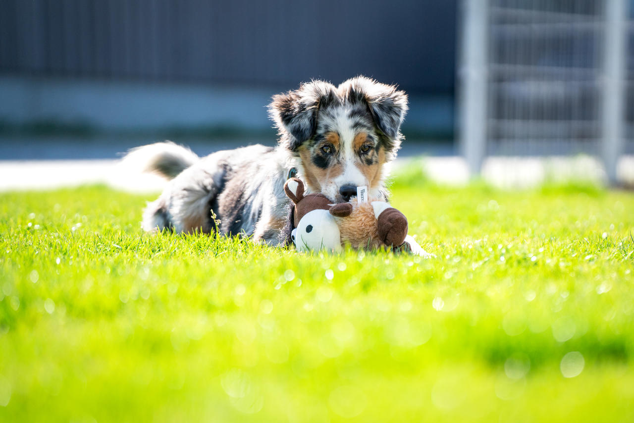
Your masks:
M 465 0 L 461 143 L 487 155 L 634 150 L 632 8 L 625 0 Z

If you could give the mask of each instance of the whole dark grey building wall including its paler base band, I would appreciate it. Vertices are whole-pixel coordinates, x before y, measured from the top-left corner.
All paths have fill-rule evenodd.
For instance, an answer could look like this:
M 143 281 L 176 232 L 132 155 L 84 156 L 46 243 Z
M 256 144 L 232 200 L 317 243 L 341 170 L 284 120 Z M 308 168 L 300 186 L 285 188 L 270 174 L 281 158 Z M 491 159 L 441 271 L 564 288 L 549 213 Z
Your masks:
M 272 94 L 364 74 L 408 91 L 405 131 L 451 133 L 455 9 L 455 0 L 0 0 L 0 130 L 266 130 Z

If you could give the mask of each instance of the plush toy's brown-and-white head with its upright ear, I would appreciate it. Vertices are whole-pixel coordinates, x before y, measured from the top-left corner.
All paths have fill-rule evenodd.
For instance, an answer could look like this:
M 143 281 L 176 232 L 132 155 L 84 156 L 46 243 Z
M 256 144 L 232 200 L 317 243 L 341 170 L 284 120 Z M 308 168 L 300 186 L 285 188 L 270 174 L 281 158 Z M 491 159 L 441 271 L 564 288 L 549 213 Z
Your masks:
M 297 251 L 340 251 L 341 234 L 330 214 L 330 200 L 322 194 L 304 195 L 304 183 L 297 178 L 288 179 L 284 191 L 295 204 L 291 238 Z

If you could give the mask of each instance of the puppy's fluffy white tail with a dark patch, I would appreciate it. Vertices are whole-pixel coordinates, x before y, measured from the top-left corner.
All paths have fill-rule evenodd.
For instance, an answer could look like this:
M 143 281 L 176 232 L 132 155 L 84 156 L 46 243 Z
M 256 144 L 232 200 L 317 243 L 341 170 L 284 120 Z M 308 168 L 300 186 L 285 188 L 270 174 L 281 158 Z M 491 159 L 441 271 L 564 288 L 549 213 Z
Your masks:
M 165 141 L 132 148 L 123 160 L 126 166 L 172 179 L 199 159 L 189 148 Z

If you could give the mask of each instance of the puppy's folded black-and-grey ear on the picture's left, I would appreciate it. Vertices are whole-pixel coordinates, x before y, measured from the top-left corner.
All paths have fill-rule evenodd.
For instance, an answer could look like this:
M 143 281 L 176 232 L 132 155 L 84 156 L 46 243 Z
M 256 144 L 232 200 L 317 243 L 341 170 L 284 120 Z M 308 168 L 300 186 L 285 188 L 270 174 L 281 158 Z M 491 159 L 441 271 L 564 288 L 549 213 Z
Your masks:
M 307 82 L 295 91 L 273 96 L 269 116 L 280 132 L 280 142 L 297 150 L 314 135 L 320 107 L 336 100 L 335 86 L 325 81 Z

